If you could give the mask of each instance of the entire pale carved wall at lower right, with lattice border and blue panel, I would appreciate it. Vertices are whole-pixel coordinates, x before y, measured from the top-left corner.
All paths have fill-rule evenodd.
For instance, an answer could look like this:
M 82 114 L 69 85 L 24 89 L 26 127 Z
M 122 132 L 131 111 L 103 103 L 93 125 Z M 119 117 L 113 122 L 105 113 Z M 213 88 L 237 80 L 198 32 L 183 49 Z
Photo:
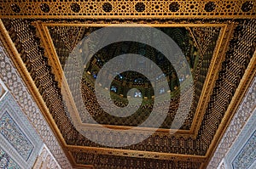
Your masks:
M 256 77 L 242 100 L 208 169 L 256 168 Z

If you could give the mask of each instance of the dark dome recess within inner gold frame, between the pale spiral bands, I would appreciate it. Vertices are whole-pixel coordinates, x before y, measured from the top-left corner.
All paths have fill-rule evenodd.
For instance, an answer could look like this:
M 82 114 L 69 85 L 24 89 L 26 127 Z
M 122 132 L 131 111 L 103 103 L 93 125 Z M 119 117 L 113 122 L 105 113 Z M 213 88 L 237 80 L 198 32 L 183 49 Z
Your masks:
M 169 25 L 174 26 L 174 25 Z M 175 25 L 177 26 L 177 25 Z M 214 53 L 214 48 L 218 46 L 217 40 L 219 37 L 219 33 L 221 30 L 221 26 L 218 27 L 200 27 L 200 25 L 195 27 L 162 27 L 159 28 L 161 31 L 166 31 L 166 33 L 169 32 L 170 36 L 172 36 L 172 39 L 175 39 L 179 46 L 183 47 L 183 53 L 188 56 L 188 61 L 190 64 L 190 69 L 193 71 L 193 76 L 195 79 L 195 91 L 198 91 L 198 93 L 195 93 L 194 97 L 194 103 L 190 111 L 190 115 L 187 118 L 187 121 L 183 124 L 183 127 L 180 129 L 183 130 L 189 130 L 192 126 L 192 120 L 193 116 L 195 115 L 196 106 L 198 103 L 198 100 L 200 98 L 201 94 L 201 88 L 202 84 L 205 82 L 205 76 L 200 76 L 201 74 L 207 75 L 207 70 L 210 65 L 212 54 Z M 55 46 L 57 58 L 60 60 L 61 68 L 64 69 L 67 62 L 67 58 L 69 54 L 71 53 L 73 47 L 75 46 L 76 41 L 81 41 L 82 38 L 84 38 L 85 35 L 88 35 L 90 31 L 94 31 L 98 28 L 90 27 L 90 28 L 84 28 L 84 26 L 77 26 L 77 27 L 68 27 L 68 26 L 48 26 L 49 29 L 49 39 L 53 39 L 53 44 Z M 73 35 L 69 35 L 69 32 L 73 32 Z M 183 37 L 183 34 L 186 36 Z M 198 36 L 198 34 L 201 34 L 201 36 Z M 47 34 L 46 34 L 47 35 Z M 69 36 L 68 36 L 69 35 Z M 80 36 L 83 35 L 83 36 Z M 198 38 L 195 38 L 198 36 Z M 69 37 L 69 41 L 66 40 Z M 80 37 L 80 38 L 79 38 Z M 201 43 L 200 41 L 204 41 L 204 43 Z M 201 44 L 199 46 L 198 44 Z M 96 78 L 96 74 L 99 70 L 101 70 L 102 65 L 104 65 L 104 62 L 107 63 L 109 59 L 112 59 L 114 56 L 118 56 L 123 51 L 121 48 L 124 46 L 131 46 L 129 51 L 127 53 L 138 53 L 139 51 L 142 51 L 144 49 L 144 46 L 140 46 L 139 44 L 135 42 L 122 42 L 122 43 L 116 43 L 112 47 L 103 48 L 102 52 L 100 51 L 98 54 L 96 54 L 96 57 L 91 59 L 90 65 L 84 68 L 84 78 L 83 78 L 83 87 L 82 87 L 82 93 L 84 98 L 84 103 L 87 108 L 87 110 L 90 111 L 90 115 L 92 115 L 96 121 L 100 124 L 105 125 L 115 125 L 115 126 L 138 126 L 138 124 L 142 123 L 147 117 L 148 114 L 150 114 L 150 111 L 152 111 L 153 104 L 154 104 L 154 91 L 152 86 L 150 85 L 150 82 L 146 80 L 143 76 L 139 76 L 138 74 L 135 74 L 134 72 L 129 74 L 127 72 L 123 76 L 119 76 L 116 78 L 113 82 L 112 87 L 116 88 L 116 91 L 112 92 L 112 96 L 114 100 L 116 100 L 116 104 L 127 104 L 127 101 L 124 99 L 127 94 L 127 90 L 131 87 L 137 87 L 142 91 L 142 97 L 143 104 L 136 112 L 135 115 L 131 115 L 128 118 L 117 118 L 113 115 L 108 115 L 108 113 L 104 112 L 99 104 L 96 104 L 96 96 L 94 94 L 94 83 Z M 68 49 L 70 48 L 70 49 Z M 199 48 L 199 49 L 197 49 Z M 206 49 L 207 50 L 206 50 Z M 111 52 L 112 51 L 112 52 Z M 172 102 L 169 108 L 169 114 L 166 117 L 166 121 L 161 125 L 160 128 L 171 128 L 173 118 L 175 116 L 175 113 L 177 111 L 177 105 L 179 103 L 179 97 L 178 94 L 178 88 L 177 85 L 179 82 L 183 83 L 185 80 L 184 75 L 182 80 L 178 82 L 177 75 L 174 74 L 175 70 L 173 70 L 172 65 L 170 62 L 168 62 L 164 57 L 161 57 L 159 59 L 159 55 L 157 51 L 146 48 L 147 51 L 145 55 L 151 59 L 155 60 L 158 65 L 160 65 L 160 68 L 164 70 L 166 76 L 161 75 L 154 75 L 154 71 L 152 76 L 156 76 L 155 79 L 155 85 L 159 86 L 157 88 L 158 92 L 161 93 L 161 97 L 166 97 L 165 95 L 168 95 L 167 97 L 172 97 Z M 203 61 L 202 61 L 203 60 Z M 139 64 L 139 60 L 133 60 L 134 65 Z M 125 60 L 122 60 L 123 63 L 127 63 Z M 139 66 L 139 65 L 137 65 Z M 107 73 L 107 72 L 106 72 Z M 121 78 L 120 78 L 121 77 Z M 167 89 L 161 88 L 162 87 L 162 79 L 168 78 L 169 79 L 169 86 L 171 88 L 170 93 L 167 92 Z M 138 82 L 142 81 L 142 82 Z M 129 87 L 130 86 L 130 87 Z M 160 89 L 164 91 L 160 91 Z M 190 89 L 190 88 L 188 88 Z M 191 89 L 190 89 L 191 90 Z M 193 90 L 193 89 L 192 89 Z M 125 93 L 126 91 L 126 93 Z M 85 94 L 86 93 L 86 94 Z M 165 94 L 166 93 L 166 94 Z M 106 93 L 105 93 L 106 94 Z M 130 97 L 134 97 L 134 95 L 131 95 Z M 105 105 L 108 106 L 108 100 L 105 100 Z M 161 103 L 162 104 L 162 103 Z M 169 104 L 169 103 L 166 103 Z M 160 106 L 160 110 L 163 106 Z M 160 110 L 158 113 L 160 113 Z M 80 113 L 80 116 L 82 115 L 82 112 Z M 83 121 L 83 120 L 82 120 Z M 158 122 L 157 118 L 152 123 Z M 90 121 L 84 123 L 91 123 Z M 151 124 L 152 124 L 151 123 Z M 150 126 L 148 126 L 150 127 Z M 183 131 L 184 132 L 184 131 Z

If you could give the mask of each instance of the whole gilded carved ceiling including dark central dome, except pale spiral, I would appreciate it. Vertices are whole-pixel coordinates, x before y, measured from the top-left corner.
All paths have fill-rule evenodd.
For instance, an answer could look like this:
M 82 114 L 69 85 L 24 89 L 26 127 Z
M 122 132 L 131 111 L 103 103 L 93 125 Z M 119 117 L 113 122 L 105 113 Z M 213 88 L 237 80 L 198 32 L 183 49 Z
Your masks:
M 42 104 L 42 109 L 47 109 L 43 111 L 44 116 L 73 167 L 205 168 L 255 76 L 255 10 L 253 1 L 242 0 L 0 1 L 1 36 L 6 48 L 18 53 L 12 58 L 16 66 L 26 66 L 26 70 L 20 68 L 20 71 L 27 71 L 26 76 L 32 79 L 27 86 L 37 96 L 35 100 Z M 108 26 L 125 29 L 137 25 L 149 25 L 171 37 L 189 63 L 191 74 L 177 76 L 178 70 L 156 48 L 139 42 L 115 42 L 90 58 L 79 83 L 67 81 L 68 57 L 84 38 Z M 98 42 L 104 39 L 98 38 Z M 87 49 L 79 51 L 84 54 L 95 46 L 91 42 Z M 119 107 L 125 107 L 128 99 L 143 99 L 135 114 L 128 117 L 116 117 L 102 110 L 95 93 L 97 85 L 105 88 L 104 83 L 96 83 L 99 71 L 121 54 L 141 54 L 164 72 L 159 75 L 152 71 L 154 82 L 134 71 L 117 73 L 111 86 L 106 86 L 101 96 L 102 104 L 107 107 L 109 100 L 105 96 L 109 93 Z M 122 63 L 126 62 L 124 58 Z M 143 63 L 138 58 L 131 64 Z M 144 66 L 145 70 L 150 68 Z M 181 95 L 181 87 L 186 86 L 189 77 L 193 77 L 193 85 L 186 87 Z M 106 79 L 109 80 L 108 76 Z M 170 90 L 162 87 L 163 79 Z M 81 104 L 76 104 L 76 96 L 70 91 L 77 84 Z M 128 93 L 132 87 L 138 91 Z M 63 90 L 67 95 L 63 95 Z M 164 122 L 159 128 L 150 125 L 160 121 L 156 116 L 148 126 L 130 130 L 148 118 L 156 93 L 163 100 L 171 99 L 158 106 L 167 107 Z M 182 127 L 175 131 L 172 122 L 179 103 L 186 97 L 192 97 L 192 104 L 184 109 L 188 115 Z M 80 109 L 83 106 L 96 123 L 88 120 L 88 114 Z M 159 114 L 161 111 L 157 110 Z M 83 130 L 100 140 L 99 143 L 79 132 L 74 116 Z M 113 144 L 128 143 L 142 136 L 145 139 L 137 144 L 121 147 Z

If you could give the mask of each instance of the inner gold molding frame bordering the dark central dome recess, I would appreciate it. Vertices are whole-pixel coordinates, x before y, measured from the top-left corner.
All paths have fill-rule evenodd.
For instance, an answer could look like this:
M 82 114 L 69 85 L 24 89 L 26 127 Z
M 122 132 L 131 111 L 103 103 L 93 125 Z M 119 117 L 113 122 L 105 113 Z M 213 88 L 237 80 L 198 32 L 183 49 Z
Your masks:
M 63 87 L 65 88 L 65 91 L 67 93 L 67 98 L 69 99 L 68 104 L 70 104 L 73 107 L 73 110 L 75 111 L 75 116 L 77 116 L 77 117 L 75 117 L 76 121 L 79 121 L 79 124 L 80 124 L 79 126 L 81 126 L 81 127 L 88 127 L 91 130 L 96 130 L 97 127 L 99 126 L 98 124 L 84 124 L 84 123 L 81 123 L 81 121 L 79 120 L 79 112 L 75 108 L 75 103 L 73 101 L 72 94 L 67 85 L 67 81 L 65 80 L 65 76 L 63 76 L 63 70 L 61 68 L 61 63 L 60 63 L 60 60 L 58 59 L 58 55 L 56 54 L 55 47 L 54 47 L 53 41 L 49 35 L 49 31 L 48 31 L 47 27 L 48 26 L 85 26 L 85 27 L 143 26 L 143 24 L 142 25 L 131 24 L 131 23 L 128 23 L 128 24 L 112 24 L 112 23 L 107 23 L 107 24 L 82 24 L 82 23 L 74 24 L 74 23 L 71 23 L 71 24 L 68 24 L 68 23 L 54 23 L 54 22 L 47 22 L 47 23 L 35 22 L 35 25 L 36 25 L 36 27 L 39 31 L 39 34 L 43 40 L 42 42 L 43 42 L 44 48 L 46 48 L 46 52 L 47 52 L 48 58 L 49 58 L 49 65 L 52 65 L 52 69 L 55 72 L 56 79 L 58 79 L 59 86 L 63 85 Z M 159 24 L 159 23 L 152 23 L 152 24 L 148 24 L 148 25 L 154 26 L 154 27 L 206 27 L 206 26 L 208 26 L 208 27 L 222 28 L 221 32 L 219 34 L 219 37 L 218 37 L 218 42 L 216 43 L 215 52 L 212 55 L 210 70 L 208 70 L 207 78 L 204 83 L 203 90 L 201 92 L 202 97 L 201 97 L 199 104 L 197 106 L 197 109 L 195 111 L 195 117 L 197 117 L 197 118 L 193 119 L 190 130 L 177 130 L 177 132 L 176 132 L 177 135 L 183 135 L 184 137 L 186 137 L 187 135 L 188 136 L 192 135 L 192 137 L 195 138 L 196 137 L 195 133 L 199 129 L 201 121 L 202 121 L 202 117 L 203 117 L 202 112 L 205 112 L 205 110 L 207 109 L 206 99 L 209 99 L 209 97 L 210 97 L 209 89 L 212 88 L 213 82 L 215 82 L 216 78 L 218 77 L 217 76 L 218 70 L 219 70 L 222 60 L 224 59 L 224 54 L 223 54 L 225 52 L 224 48 L 226 48 L 227 42 L 229 42 L 229 40 L 230 40 L 230 31 L 232 31 L 234 24 L 233 23 L 231 23 L 231 24 L 218 24 L 218 23 L 216 23 L 216 24 L 215 23 L 214 24 L 211 24 L 211 23 L 205 23 L 205 24 Z M 222 48 L 221 52 L 219 52 L 220 48 Z M 218 69 L 216 69 L 214 67 L 216 65 L 218 65 Z M 127 130 L 127 129 L 131 128 L 131 127 L 113 126 L 113 125 L 103 125 L 103 126 L 108 127 L 108 128 L 113 128 L 113 129 L 119 129 L 119 130 Z M 140 128 L 140 132 L 149 132 L 151 130 L 152 129 L 150 127 L 141 127 Z M 160 134 L 165 134 L 165 132 L 169 133 L 170 130 L 172 131 L 172 129 L 160 128 L 157 130 L 157 132 L 160 132 Z

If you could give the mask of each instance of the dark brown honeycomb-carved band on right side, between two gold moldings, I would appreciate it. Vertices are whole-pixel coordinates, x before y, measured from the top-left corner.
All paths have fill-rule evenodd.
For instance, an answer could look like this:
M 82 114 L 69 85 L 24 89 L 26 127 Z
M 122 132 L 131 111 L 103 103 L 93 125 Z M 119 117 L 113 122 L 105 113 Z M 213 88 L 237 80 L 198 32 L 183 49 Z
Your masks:
M 241 21 L 236 26 L 234 37 L 230 41 L 230 48 L 219 71 L 219 78 L 213 88 L 213 93 L 202 121 L 198 138 L 210 144 L 222 121 L 241 77 L 252 59 L 256 48 L 256 21 Z M 212 133 L 212 134 L 210 134 Z

